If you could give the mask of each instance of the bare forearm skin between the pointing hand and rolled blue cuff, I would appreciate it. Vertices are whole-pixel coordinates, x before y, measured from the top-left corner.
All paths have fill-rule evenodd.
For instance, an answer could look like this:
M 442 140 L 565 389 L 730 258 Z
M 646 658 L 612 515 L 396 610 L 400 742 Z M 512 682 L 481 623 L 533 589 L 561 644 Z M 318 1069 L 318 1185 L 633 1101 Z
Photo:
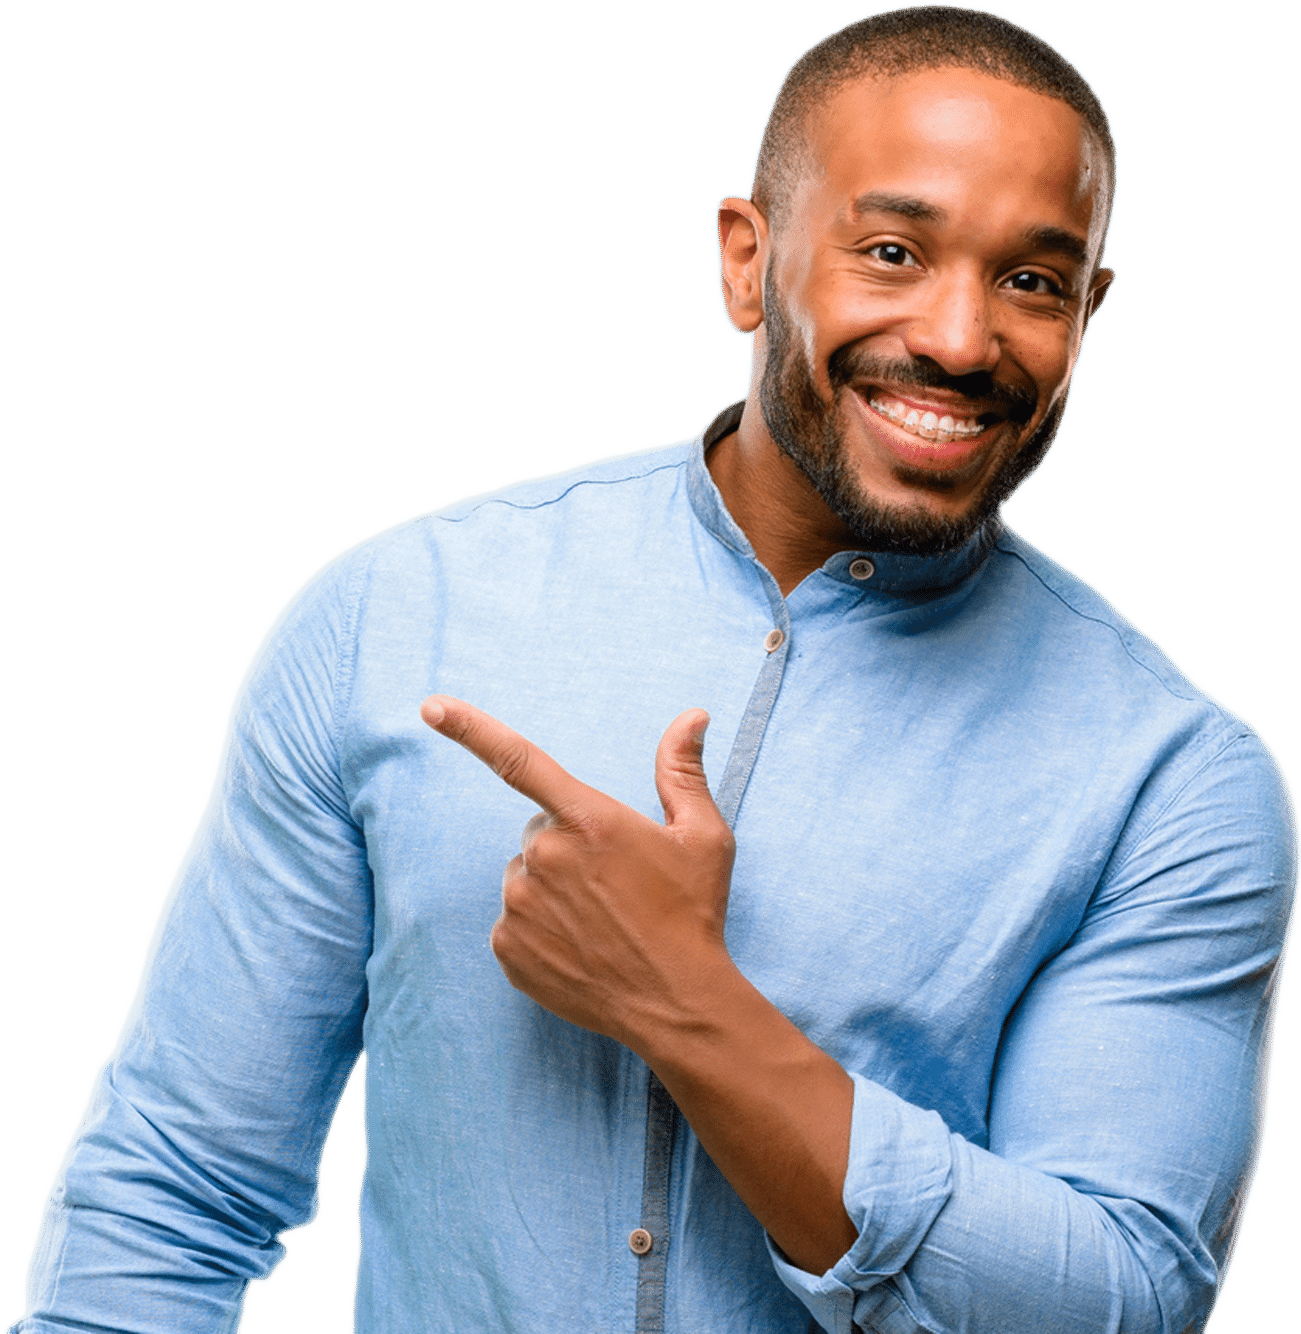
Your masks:
M 809 1273 L 858 1235 L 842 1191 L 854 1086 L 746 980 L 715 962 L 624 1041 L 655 1071 L 767 1234 Z

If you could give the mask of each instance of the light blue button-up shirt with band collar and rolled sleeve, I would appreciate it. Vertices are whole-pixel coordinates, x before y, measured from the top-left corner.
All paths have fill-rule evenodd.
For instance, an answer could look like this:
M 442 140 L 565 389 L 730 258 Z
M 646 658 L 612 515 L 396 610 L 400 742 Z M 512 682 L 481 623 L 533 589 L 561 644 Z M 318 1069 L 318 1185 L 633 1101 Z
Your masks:
M 236 1330 L 363 1053 L 359 1334 L 1202 1327 L 1268 1126 L 1282 764 L 1010 524 L 783 599 L 705 467 L 738 414 L 414 515 L 284 602 L 7 1330 Z M 659 736 L 709 710 L 729 946 L 854 1079 L 833 1270 L 638 1058 L 506 982 L 534 807 L 432 692 L 657 818 Z

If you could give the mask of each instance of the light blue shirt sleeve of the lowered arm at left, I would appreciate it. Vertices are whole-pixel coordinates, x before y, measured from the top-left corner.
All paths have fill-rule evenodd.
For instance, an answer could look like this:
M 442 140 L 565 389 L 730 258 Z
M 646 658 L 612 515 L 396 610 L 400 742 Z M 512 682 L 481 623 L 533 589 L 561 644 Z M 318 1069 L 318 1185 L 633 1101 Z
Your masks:
M 338 763 L 358 578 L 347 554 L 320 567 L 246 664 L 41 1203 L 15 1334 L 236 1329 L 284 1234 L 315 1218 L 371 947 Z

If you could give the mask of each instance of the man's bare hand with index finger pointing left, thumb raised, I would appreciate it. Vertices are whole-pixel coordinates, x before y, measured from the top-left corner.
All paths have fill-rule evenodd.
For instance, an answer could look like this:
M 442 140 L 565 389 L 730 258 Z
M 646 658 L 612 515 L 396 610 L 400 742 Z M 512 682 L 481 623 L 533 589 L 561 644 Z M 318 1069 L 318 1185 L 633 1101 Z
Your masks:
M 542 807 L 506 867 L 492 927 L 510 983 L 634 1051 L 640 1033 L 690 1022 L 711 972 L 734 968 L 723 923 L 735 844 L 701 763 L 709 714 L 689 710 L 661 739 L 663 824 L 471 704 L 432 695 L 420 715 Z

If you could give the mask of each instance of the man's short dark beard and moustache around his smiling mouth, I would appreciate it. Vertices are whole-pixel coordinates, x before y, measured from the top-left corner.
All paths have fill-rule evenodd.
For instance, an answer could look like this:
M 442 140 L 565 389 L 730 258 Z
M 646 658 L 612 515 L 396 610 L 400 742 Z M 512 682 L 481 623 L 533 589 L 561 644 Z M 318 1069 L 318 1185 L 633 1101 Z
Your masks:
M 949 375 L 927 358 L 886 362 L 842 347 L 827 366 L 833 399 L 825 403 L 793 336 L 786 307 L 773 281 L 771 263 L 763 291 L 763 327 L 769 346 L 759 382 L 759 407 L 769 435 L 865 551 L 934 556 L 965 546 L 981 528 L 989 527 L 991 535 L 997 534 L 1003 507 L 1047 458 L 1066 414 L 1063 394 L 1025 442 L 998 464 L 966 512 L 934 514 L 921 502 L 885 504 L 863 490 L 849 462 L 839 411 L 845 395 L 854 392 L 850 388 L 854 380 L 951 390 L 993 403 L 1010 423 L 1022 427 L 1034 415 L 1034 395 L 995 383 L 987 371 Z M 945 474 L 903 464 L 894 468 L 894 475 L 910 486 L 941 492 L 962 480 L 961 470 Z

